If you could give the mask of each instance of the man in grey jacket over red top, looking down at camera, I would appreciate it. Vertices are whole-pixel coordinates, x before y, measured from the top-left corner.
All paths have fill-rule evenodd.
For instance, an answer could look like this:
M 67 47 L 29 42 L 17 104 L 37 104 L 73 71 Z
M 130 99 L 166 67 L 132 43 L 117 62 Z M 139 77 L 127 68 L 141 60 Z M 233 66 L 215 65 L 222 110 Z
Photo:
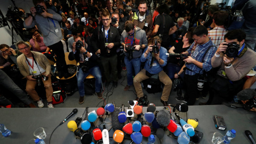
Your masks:
M 124 91 L 127 91 L 133 84 L 133 69 L 135 75 L 140 72 L 142 50 L 148 46 L 146 32 L 139 27 L 134 27 L 132 21 L 126 21 L 125 30 L 121 35 L 121 44 L 124 46 L 124 62 L 127 69 L 127 85 Z

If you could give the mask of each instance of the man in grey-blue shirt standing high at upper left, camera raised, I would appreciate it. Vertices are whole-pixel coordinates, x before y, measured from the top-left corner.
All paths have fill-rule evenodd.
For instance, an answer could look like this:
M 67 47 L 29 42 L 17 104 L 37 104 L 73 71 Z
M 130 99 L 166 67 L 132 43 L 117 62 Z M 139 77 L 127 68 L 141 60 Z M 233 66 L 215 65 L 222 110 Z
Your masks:
M 59 21 L 62 20 L 61 15 L 55 13 L 51 9 L 47 9 L 44 0 L 33 0 L 35 7 L 37 5 L 41 6 L 42 11 L 37 11 L 35 7 L 30 8 L 31 14 L 24 21 L 23 25 L 25 28 L 32 28 L 35 25 L 44 35 L 44 43 L 54 54 L 57 55 L 57 69 L 58 76 L 62 78 L 68 78 L 70 74 L 68 73 L 65 54 L 63 50 L 63 44 L 60 41 L 62 39 L 61 29 Z M 39 13 L 41 12 L 41 13 Z

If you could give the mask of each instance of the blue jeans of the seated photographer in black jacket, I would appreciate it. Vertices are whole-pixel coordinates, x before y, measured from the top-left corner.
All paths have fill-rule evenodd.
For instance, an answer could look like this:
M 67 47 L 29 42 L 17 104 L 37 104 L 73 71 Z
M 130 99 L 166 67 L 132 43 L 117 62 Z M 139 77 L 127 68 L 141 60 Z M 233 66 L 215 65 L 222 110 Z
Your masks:
M 84 79 L 92 74 L 95 77 L 95 92 L 100 92 L 101 89 L 101 71 L 98 66 L 92 67 L 89 69 L 87 73 L 83 73 L 82 69 L 79 69 L 78 77 L 77 77 L 77 86 L 80 97 L 84 97 Z

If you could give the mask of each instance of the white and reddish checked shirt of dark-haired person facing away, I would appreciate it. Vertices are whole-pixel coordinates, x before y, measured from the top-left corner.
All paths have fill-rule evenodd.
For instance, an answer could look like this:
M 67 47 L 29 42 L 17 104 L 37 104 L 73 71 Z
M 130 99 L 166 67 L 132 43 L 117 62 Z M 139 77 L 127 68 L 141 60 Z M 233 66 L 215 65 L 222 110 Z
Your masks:
M 217 46 L 220 46 L 222 42 L 225 41 L 224 36 L 228 33 L 228 31 L 224 28 L 215 27 L 212 30 L 208 31 L 208 36 L 211 37 L 212 42 Z

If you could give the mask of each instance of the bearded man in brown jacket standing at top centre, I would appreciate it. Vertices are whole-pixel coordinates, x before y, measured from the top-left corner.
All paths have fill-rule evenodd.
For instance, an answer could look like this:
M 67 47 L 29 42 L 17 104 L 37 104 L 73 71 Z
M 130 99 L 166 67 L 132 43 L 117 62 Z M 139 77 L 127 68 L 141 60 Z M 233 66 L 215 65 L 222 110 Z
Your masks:
M 145 0 L 140 1 L 138 10 L 131 15 L 130 21 L 132 21 L 136 27 L 145 30 L 147 38 L 150 37 L 153 31 L 153 20 L 147 10 L 147 2 Z

